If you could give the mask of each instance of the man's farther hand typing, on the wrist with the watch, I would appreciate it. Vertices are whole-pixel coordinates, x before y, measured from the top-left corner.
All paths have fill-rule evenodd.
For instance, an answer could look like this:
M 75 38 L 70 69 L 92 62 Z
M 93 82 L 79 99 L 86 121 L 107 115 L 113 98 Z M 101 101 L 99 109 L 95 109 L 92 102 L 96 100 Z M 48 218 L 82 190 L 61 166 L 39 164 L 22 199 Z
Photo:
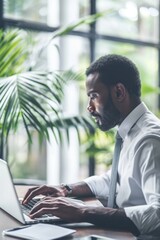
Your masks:
M 27 193 L 24 196 L 24 199 L 22 201 L 23 204 L 28 203 L 32 198 L 38 195 L 44 195 L 44 196 L 53 196 L 53 197 L 59 197 L 63 196 L 65 197 L 65 192 L 61 187 L 49 187 L 47 185 L 42 185 L 40 187 L 33 187 L 30 188 Z

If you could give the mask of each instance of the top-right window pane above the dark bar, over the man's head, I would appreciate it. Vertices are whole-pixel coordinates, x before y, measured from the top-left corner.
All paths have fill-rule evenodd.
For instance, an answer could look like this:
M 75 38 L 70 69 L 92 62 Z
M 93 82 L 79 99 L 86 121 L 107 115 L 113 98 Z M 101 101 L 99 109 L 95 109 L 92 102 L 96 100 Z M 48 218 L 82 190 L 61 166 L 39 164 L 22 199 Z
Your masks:
M 97 1 L 97 10 L 110 9 L 97 23 L 97 31 L 124 38 L 158 41 L 159 0 Z

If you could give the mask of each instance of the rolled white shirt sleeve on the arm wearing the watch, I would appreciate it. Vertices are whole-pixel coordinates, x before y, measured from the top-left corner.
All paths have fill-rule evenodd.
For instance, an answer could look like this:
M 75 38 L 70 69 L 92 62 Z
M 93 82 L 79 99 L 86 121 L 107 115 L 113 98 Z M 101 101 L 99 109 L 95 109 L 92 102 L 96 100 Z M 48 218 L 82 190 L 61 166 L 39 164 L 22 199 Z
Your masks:
M 92 176 L 84 179 L 92 193 L 97 198 L 108 198 L 111 170 L 100 176 Z

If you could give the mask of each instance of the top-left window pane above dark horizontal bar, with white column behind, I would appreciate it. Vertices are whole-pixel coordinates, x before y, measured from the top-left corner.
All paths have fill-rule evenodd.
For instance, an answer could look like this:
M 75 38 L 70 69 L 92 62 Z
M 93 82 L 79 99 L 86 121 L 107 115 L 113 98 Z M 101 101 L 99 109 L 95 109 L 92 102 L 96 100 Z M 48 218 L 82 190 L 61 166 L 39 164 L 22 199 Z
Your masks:
M 6 18 L 44 23 L 52 27 L 69 24 L 88 14 L 89 0 L 4 1 L 4 16 Z M 78 29 L 88 28 L 81 26 Z

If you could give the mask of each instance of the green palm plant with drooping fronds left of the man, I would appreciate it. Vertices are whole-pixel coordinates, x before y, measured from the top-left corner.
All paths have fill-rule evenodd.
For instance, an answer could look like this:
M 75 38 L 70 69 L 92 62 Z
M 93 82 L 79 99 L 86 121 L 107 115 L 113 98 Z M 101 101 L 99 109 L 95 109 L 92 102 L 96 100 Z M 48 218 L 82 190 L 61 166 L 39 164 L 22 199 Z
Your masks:
M 55 31 L 50 39 L 66 35 L 81 24 L 91 24 L 104 13 L 90 15 L 76 23 Z M 78 125 L 88 131 L 92 123 L 84 117 L 64 118 L 61 103 L 63 86 L 67 74 L 61 72 L 26 71 L 24 67 L 27 51 L 24 50 L 23 32 L 20 30 L 0 31 L 0 157 L 11 130 L 16 131 L 23 123 L 29 142 L 32 141 L 31 129 L 35 129 L 41 139 L 49 140 L 51 130 L 62 140 L 61 128 L 68 133 L 68 127 L 74 126 L 79 133 Z M 50 41 L 47 43 L 49 44 Z M 40 53 L 45 50 L 43 46 Z M 72 74 L 77 78 L 78 74 Z M 69 74 L 69 79 L 71 75 Z

